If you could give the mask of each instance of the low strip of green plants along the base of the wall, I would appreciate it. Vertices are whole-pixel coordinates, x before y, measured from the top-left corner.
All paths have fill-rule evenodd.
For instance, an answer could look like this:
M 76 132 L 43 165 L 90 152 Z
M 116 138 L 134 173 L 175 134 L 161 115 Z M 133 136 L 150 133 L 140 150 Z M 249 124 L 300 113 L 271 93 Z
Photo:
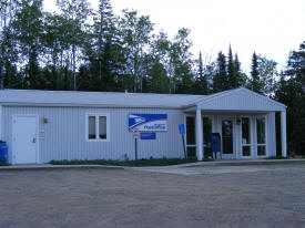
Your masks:
M 180 159 L 180 158 L 162 158 L 162 159 L 139 159 L 139 160 L 51 160 L 52 165 L 112 165 L 112 166 L 169 166 L 169 165 L 179 165 L 186 163 L 195 163 L 196 158 Z

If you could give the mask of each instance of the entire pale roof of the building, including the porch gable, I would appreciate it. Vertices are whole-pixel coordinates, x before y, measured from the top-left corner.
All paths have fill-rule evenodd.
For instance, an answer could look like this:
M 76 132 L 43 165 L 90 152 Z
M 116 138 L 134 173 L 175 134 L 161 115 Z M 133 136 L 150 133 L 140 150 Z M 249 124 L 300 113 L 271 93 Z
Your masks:
M 228 101 L 230 100 L 230 101 Z M 1 90 L 0 104 L 20 106 L 162 107 L 193 110 L 286 108 L 266 96 L 240 87 L 211 95 L 114 93 L 81 91 Z

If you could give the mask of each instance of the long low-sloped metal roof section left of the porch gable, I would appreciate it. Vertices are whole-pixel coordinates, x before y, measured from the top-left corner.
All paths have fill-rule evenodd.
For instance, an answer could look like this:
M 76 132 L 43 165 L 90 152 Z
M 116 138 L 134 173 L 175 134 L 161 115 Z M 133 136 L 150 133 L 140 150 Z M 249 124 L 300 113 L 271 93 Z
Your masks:
M 204 95 L 80 91 L 2 90 L 0 104 L 29 106 L 109 106 L 181 108 Z

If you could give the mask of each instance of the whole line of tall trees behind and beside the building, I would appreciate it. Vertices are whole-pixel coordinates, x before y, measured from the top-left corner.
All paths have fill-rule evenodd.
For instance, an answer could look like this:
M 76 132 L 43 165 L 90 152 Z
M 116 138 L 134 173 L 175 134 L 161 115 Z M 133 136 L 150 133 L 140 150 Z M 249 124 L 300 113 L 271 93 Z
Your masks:
M 149 15 L 115 15 L 110 0 L 98 10 L 87 0 L 57 7 L 0 2 L 0 89 L 211 94 L 245 86 L 287 105 L 288 149 L 305 153 L 305 41 L 282 72 L 254 52 L 247 74 L 231 45 L 215 60 L 193 56 L 187 28 L 169 38 Z

